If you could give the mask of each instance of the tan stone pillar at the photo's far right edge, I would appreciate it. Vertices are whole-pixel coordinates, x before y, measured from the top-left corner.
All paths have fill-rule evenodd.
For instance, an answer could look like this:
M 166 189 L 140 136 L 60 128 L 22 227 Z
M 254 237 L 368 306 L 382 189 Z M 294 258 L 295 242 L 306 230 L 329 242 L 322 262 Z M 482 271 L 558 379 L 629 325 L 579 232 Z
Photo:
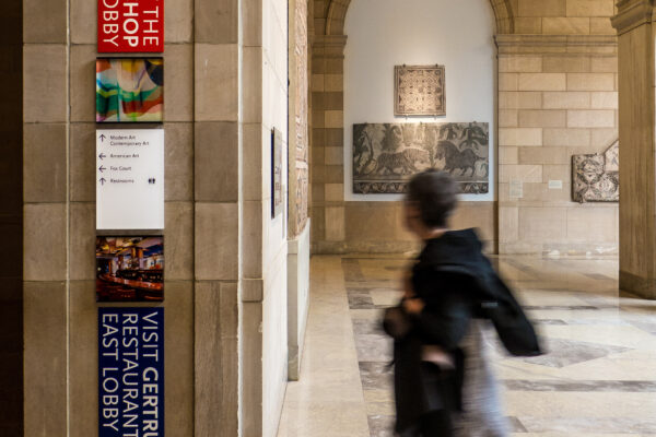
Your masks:
M 619 35 L 620 288 L 656 299 L 656 152 L 653 5 L 621 0 Z

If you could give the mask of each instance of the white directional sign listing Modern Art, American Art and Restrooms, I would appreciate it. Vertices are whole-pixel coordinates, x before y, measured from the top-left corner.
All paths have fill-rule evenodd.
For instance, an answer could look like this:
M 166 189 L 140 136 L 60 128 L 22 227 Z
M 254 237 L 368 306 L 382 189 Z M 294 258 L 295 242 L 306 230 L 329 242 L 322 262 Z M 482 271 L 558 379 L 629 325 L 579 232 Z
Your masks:
M 96 130 L 96 228 L 164 228 L 164 130 Z

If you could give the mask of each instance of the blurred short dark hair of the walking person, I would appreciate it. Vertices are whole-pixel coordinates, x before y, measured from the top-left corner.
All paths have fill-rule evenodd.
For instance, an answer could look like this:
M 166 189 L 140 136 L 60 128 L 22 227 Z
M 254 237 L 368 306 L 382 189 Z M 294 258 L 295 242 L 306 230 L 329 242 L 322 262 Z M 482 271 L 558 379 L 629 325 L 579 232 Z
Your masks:
M 417 203 L 427 227 L 446 227 L 458 201 L 456 181 L 447 173 L 430 169 L 410 179 L 407 200 Z

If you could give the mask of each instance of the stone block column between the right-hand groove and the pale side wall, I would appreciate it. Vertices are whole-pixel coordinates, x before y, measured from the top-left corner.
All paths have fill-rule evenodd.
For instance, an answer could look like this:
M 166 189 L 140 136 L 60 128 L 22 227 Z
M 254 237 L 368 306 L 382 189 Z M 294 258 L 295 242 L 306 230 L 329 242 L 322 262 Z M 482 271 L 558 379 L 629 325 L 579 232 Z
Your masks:
M 238 435 L 238 0 L 195 2 L 195 436 Z M 169 223 L 167 223 L 169 225 Z

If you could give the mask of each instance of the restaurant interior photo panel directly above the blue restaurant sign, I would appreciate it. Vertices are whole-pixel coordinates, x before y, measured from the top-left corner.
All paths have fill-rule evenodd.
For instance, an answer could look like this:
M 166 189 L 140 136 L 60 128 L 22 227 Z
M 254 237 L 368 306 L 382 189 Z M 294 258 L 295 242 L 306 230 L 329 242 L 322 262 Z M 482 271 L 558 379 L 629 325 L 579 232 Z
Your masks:
M 97 236 L 96 300 L 164 300 L 164 237 Z

